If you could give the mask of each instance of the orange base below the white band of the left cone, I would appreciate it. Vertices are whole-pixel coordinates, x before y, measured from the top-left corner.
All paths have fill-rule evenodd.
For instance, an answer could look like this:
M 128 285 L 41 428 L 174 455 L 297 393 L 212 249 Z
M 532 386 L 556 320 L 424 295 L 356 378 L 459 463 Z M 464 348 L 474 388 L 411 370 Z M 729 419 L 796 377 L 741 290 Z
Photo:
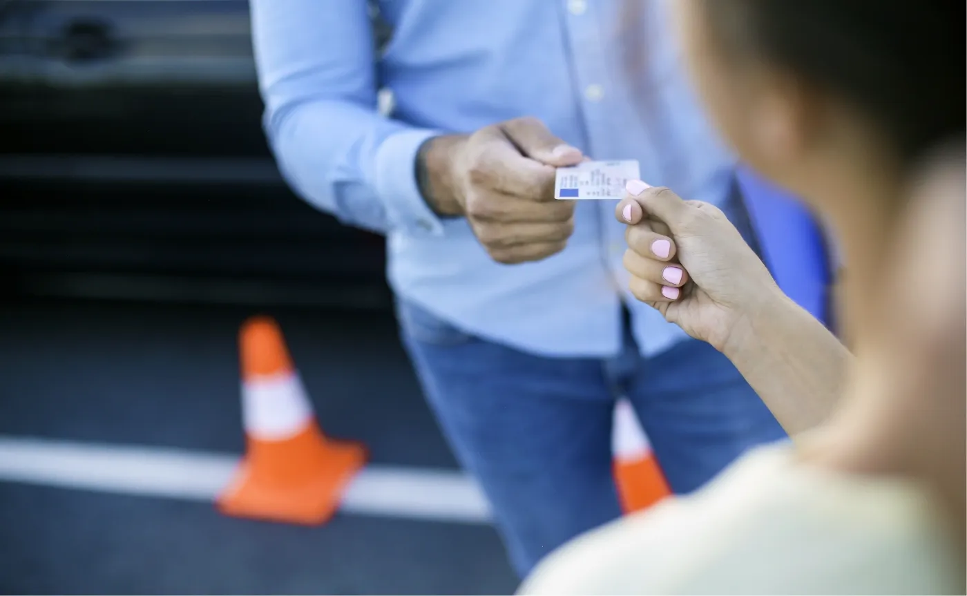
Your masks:
M 318 524 L 336 513 L 366 449 L 324 438 L 311 424 L 285 441 L 249 439 L 249 453 L 219 509 L 229 516 Z

